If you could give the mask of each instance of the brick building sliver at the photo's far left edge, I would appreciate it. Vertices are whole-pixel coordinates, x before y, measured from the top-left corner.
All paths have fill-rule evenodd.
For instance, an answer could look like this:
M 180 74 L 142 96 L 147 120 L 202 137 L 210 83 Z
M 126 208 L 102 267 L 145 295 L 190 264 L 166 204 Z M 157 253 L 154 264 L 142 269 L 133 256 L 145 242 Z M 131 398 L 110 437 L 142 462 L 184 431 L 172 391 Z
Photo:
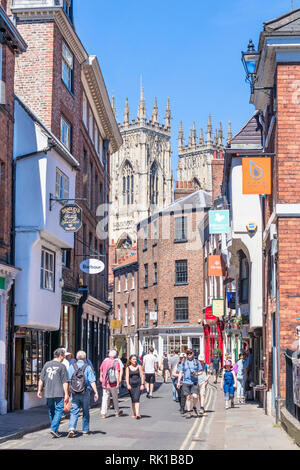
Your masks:
M 7 367 L 12 358 L 11 291 L 18 269 L 14 266 L 13 240 L 13 123 L 14 68 L 26 43 L 7 15 L 6 0 L 0 1 L 0 414 L 10 408 L 12 376 Z

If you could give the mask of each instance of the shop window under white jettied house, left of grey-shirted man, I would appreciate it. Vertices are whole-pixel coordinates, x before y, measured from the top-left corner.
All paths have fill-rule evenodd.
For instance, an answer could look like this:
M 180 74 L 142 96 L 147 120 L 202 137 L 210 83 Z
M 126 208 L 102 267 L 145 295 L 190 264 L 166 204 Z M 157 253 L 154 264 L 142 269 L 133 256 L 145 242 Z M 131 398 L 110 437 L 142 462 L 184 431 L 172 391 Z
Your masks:
M 25 392 L 35 392 L 44 364 L 49 360 L 49 333 L 26 330 Z

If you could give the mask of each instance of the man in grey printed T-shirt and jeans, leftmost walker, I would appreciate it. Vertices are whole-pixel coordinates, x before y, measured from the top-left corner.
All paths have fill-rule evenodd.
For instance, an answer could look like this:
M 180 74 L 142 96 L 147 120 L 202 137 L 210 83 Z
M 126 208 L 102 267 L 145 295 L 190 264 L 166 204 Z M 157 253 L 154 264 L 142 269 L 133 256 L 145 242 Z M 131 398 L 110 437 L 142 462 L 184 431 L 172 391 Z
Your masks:
M 66 366 L 62 364 L 65 352 L 63 348 L 56 349 L 53 360 L 44 365 L 39 383 L 37 396 L 43 398 L 43 387 L 45 387 L 45 398 L 49 408 L 51 423 L 51 434 L 54 438 L 61 437 L 58 433 L 60 421 L 64 412 L 64 405 L 69 401 L 69 377 Z

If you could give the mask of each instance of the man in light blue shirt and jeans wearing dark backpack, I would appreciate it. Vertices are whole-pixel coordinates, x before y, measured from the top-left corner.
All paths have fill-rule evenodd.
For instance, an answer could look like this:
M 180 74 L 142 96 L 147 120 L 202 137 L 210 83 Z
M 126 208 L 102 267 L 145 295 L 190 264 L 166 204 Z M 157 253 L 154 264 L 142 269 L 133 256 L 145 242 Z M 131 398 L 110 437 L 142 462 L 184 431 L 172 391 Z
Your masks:
M 76 362 L 69 368 L 69 381 L 71 392 L 71 410 L 68 437 L 73 438 L 82 409 L 82 433 L 90 434 L 90 392 L 94 392 L 95 403 L 99 400 L 96 386 L 96 376 L 92 367 L 86 360 L 86 353 L 78 351 Z

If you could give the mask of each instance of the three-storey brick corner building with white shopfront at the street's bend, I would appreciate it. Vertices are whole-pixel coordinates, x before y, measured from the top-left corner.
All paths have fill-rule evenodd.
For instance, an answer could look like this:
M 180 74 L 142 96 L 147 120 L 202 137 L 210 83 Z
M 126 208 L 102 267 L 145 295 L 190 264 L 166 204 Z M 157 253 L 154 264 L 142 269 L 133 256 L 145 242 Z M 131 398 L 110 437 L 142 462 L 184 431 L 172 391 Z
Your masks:
M 203 352 L 199 225 L 211 196 L 197 191 L 138 224 L 139 353 Z

